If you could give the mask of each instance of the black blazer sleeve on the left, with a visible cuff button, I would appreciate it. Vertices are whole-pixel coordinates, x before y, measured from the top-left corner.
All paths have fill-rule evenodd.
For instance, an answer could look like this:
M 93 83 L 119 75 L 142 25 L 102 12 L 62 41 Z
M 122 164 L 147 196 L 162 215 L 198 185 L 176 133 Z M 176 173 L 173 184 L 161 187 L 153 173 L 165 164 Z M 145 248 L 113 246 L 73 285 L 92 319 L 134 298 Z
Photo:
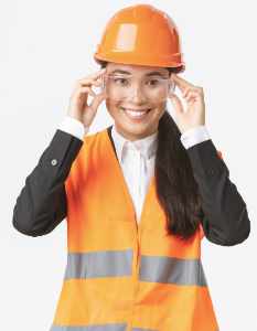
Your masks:
M 66 217 L 64 183 L 83 142 L 68 132 L 56 130 L 17 197 L 12 224 L 20 233 L 42 236 Z

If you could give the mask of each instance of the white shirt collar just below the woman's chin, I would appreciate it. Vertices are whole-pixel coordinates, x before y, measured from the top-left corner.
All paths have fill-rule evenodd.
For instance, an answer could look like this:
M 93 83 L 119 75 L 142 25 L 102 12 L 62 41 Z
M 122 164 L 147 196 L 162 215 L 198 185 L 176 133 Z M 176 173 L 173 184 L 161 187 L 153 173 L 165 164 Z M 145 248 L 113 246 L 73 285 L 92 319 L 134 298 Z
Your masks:
M 130 141 L 117 131 L 115 124 L 111 127 L 111 137 L 120 162 L 124 160 L 124 153 L 127 148 L 136 148 L 144 159 L 150 159 L 157 151 L 157 136 L 158 131 L 142 139 Z

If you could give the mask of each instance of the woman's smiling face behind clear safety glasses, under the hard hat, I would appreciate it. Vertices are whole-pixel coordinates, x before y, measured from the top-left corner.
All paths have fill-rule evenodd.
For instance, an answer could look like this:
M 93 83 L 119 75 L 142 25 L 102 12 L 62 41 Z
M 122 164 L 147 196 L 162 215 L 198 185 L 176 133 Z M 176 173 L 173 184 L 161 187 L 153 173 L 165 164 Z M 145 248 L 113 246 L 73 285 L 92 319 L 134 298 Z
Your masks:
M 115 74 L 125 78 L 122 81 L 116 79 L 116 83 L 113 83 L 116 84 L 115 88 L 118 86 L 118 90 L 120 90 L 120 84 L 122 84 L 121 90 L 127 90 L 125 98 L 106 98 L 106 107 L 115 120 L 117 131 L 129 140 L 141 139 L 156 132 L 159 119 L 165 110 L 167 99 L 161 98 L 160 94 L 154 96 L 154 92 L 151 92 L 154 89 L 149 89 L 150 87 L 148 86 L 153 86 L 151 84 L 154 82 L 151 81 L 151 77 L 153 79 L 158 76 L 169 78 L 169 71 L 164 67 L 127 65 L 113 62 L 109 62 L 106 68 L 107 76 L 108 74 Z M 132 82 L 130 87 L 124 87 L 128 86 L 128 82 Z M 149 90 L 153 97 L 149 97 Z M 136 117 L 139 113 L 135 111 L 143 111 L 143 115 Z

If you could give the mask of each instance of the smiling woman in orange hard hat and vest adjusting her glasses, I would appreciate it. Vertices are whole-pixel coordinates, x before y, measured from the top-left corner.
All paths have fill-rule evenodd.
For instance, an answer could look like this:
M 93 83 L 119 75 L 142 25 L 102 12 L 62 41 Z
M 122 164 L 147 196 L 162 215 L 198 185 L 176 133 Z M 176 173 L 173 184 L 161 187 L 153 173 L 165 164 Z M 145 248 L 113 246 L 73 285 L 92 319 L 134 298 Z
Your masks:
M 201 239 L 236 245 L 250 225 L 205 128 L 203 88 L 178 75 L 184 63 L 174 22 L 152 6 L 125 8 L 95 60 L 101 70 L 77 81 L 13 213 L 14 227 L 31 236 L 67 217 L 51 330 L 217 331 Z M 114 126 L 85 135 L 103 100 Z

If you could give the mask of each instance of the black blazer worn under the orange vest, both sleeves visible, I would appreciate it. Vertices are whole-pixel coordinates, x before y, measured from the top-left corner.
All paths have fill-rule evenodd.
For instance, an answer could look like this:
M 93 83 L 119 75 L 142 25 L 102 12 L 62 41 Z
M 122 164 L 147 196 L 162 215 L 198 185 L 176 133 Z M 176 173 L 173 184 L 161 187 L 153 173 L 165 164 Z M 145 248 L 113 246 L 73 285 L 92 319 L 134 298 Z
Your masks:
M 111 126 L 108 135 L 115 150 L 110 130 Z M 64 182 L 82 146 L 81 139 L 56 130 L 17 197 L 12 224 L 20 233 L 42 236 L 66 217 Z M 229 180 L 228 169 L 213 141 L 196 143 L 186 152 L 202 197 L 201 220 L 206 238 L 223 246 L 244 242 L 250 232 L 246 203 Z

